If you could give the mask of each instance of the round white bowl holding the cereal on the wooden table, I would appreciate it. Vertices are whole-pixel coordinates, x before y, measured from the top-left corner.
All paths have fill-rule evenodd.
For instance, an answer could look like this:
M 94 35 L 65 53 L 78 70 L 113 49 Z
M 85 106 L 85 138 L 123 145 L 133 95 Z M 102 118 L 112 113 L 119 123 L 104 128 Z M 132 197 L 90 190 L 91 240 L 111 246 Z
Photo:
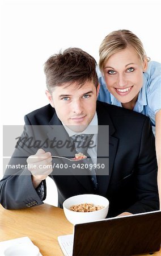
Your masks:
M 92 203 L 94 205 L 103 206 L 103 209 L 95 210 L 94 212 L 74 212 L 69 210 L 72 205 Z M 79 224 L 85 222 L 91 222 L 96 220 L 102 220 L 107 216 L 109 207 L 109 201 L 107 198 L 94 194 L 84 194 L 78 196 L 72 196 L 63 202 L 63 210 L 67 220 L 71 224 Z

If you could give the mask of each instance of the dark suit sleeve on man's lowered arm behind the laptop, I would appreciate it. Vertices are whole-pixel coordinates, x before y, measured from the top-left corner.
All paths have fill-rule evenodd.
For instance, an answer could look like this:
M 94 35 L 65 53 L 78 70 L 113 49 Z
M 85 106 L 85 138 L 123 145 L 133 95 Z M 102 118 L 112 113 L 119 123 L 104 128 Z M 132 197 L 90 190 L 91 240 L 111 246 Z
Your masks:
M 127 212 L 135 214 L 159 209 L 157 171 L 155 138 L 152 134 L 149 118 L 146 118 L 142 130 L 137 172 L 135 174 L 137 201 L 126 209 Z

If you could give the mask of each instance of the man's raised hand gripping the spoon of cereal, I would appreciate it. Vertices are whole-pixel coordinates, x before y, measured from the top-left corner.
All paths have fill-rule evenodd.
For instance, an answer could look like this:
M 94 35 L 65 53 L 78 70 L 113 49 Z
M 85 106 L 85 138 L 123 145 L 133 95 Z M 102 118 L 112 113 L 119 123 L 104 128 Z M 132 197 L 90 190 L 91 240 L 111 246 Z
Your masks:
M 27 158 L 27 163 L 35 167 L 28 168 L 28 170 L 31 171 L 32 183 L 35 188 L 53 171 L 52 168 L 47 168 L 52 164 L 51 153 L 45 152 L 41 148 L 37 150 L 35 155 L 31 155 Z

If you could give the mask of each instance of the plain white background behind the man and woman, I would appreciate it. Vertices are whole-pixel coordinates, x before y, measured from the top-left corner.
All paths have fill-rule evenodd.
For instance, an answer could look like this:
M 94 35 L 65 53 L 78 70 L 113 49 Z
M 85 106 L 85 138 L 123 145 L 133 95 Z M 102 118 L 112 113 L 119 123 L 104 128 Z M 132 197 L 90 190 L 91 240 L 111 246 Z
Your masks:
M 128 29 L 160 61 L 160 24 L 159 0 L 1 1 L 2 124 L 23 125 L 24 114 L 48 104 L 43 64 L 50 55 L 79 47 L 98 61 L 104 37 Z M 48 187 L 56 204 L 53 182 Z

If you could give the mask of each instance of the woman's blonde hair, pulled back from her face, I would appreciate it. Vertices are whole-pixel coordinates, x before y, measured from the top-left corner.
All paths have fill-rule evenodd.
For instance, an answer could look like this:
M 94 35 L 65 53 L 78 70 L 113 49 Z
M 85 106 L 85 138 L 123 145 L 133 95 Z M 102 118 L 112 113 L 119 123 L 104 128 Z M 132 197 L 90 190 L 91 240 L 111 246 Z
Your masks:
M 125 49 L 126 47 L 133 47 L 138 57 L 143 62 L 145 59 L 150 61 L 150 58 L 146 56 L 145 49 L 141 40 L 129 30 L 116 30 L 108 34 L 103 42 L 101 42 L 99 48 L 99 67 L 103 71 L 105 63 L 114 53 Z

